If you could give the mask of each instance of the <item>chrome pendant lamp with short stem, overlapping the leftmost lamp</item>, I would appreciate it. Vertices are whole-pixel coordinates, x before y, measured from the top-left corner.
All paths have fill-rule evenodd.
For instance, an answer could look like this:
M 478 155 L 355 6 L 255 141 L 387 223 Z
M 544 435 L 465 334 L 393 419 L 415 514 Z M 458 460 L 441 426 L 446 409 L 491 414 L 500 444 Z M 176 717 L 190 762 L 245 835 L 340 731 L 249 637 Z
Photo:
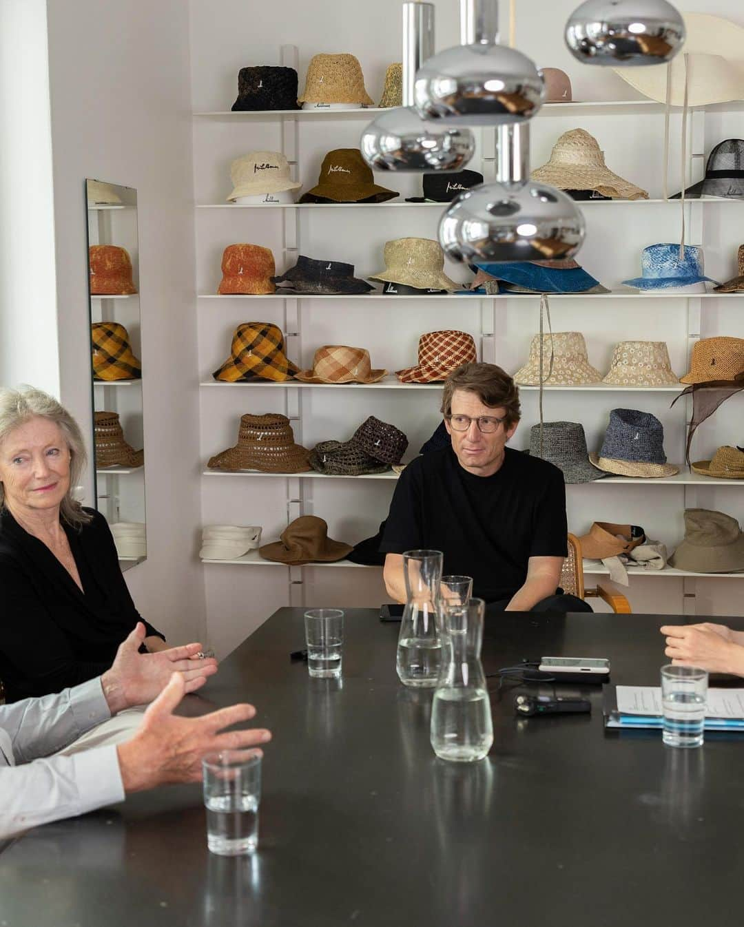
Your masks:
M 498 0 L 460 0 L 462 44 L 419 68 L 414 105 L 428 120 L 457 125 L 523 122 L 543 102 L 534 63 L 498 42 Z

